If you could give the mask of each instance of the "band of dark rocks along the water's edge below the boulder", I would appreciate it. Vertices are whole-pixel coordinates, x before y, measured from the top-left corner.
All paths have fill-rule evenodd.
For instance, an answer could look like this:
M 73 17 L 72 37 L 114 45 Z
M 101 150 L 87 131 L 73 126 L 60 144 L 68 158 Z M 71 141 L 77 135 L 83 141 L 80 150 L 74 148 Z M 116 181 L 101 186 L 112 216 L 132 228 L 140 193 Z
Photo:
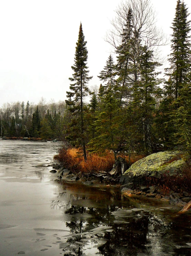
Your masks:
M 138 186 L 135 189 L 132 189 L 134 186 L 133 183 L 124 183 L 124 176 L 120 177 L 117 180 L 114 180 L 113 177 L 109 177 L 106 174 L 87 174 L 82 175 L 82 173 L 73 174 L 70 170 L 60 166 L 59 164 L 52 165 L 52 170 L 50 173 L 55 173 L 58 175 L 54 181 L 64 184 L 68 182 L 81 182 L 86 186 L 97 186 L 103 188 L 105 187 L 116 187 L 121 191 L 121 195 L 124 197 L 129 196 L 144 196 L 147 198 L 155 198 L 157 200 L 169 202 L 170 205 L 176 205 L 183 207 L 189 201 L 191 201 L 191 194 L 187 191 L 182 193 L 176 193 L 170 191 L 169 193 L 163 192 L 159 186 Z

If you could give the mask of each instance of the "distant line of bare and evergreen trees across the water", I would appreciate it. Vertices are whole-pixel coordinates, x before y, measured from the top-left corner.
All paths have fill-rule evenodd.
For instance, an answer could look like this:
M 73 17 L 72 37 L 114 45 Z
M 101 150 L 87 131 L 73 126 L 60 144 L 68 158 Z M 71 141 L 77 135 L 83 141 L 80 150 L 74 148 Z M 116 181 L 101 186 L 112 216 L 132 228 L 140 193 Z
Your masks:
M 46 103 L 14 102 L 0 108 L 0 136 L 56 139 L 63 136 L 64 101 Z

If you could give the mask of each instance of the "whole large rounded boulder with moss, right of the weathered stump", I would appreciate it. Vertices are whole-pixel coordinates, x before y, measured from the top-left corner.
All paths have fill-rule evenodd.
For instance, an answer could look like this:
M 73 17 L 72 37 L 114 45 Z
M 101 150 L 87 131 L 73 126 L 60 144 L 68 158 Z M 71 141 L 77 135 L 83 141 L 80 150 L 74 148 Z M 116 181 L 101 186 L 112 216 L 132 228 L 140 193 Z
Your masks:
M 162 174 L 175 175 L 181 173 L 185 166 L 186 155 L 180 151 L 164 151 L 154 153 L 138 160 L 125 171 L 120 179 L 121 184 L 141 181 L 142 177 L 160 178 Z M 142 179 L 143 180 L 143 179 Z

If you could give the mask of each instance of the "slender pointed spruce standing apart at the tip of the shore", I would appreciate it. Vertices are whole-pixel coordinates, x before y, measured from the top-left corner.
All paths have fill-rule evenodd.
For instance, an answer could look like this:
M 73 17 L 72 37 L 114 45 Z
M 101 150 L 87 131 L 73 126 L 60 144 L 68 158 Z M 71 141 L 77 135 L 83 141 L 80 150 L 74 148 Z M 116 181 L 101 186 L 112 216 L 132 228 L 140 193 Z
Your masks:
M 86 155 L 86 140 L 84 138 L 84 109 L 83 99 L 88 94 L 88 81 L 92 78 L 88 76 L 89 70 L 87 67 L 88 50 L 86 47 L 87 41 L 84 40 L 84 34 L 82 30 L 82 24 L 80 23 L 78 42 L 76 43 L 76 53 L 74 58 L 74 65 L 71 67 L 74 71 L 72 78 L 69 78 L 73 83 L 70 84 L 70 90 L 67 91 L 66 104 L 69 110 L 75 115 L 79 116 L 80 120 L 80 144 L 83 149 L 84 160 L 87 160 Z M 72 123 L 72 122 L 71 122 Z M 77 125 L 77 124 L 76 124 Z

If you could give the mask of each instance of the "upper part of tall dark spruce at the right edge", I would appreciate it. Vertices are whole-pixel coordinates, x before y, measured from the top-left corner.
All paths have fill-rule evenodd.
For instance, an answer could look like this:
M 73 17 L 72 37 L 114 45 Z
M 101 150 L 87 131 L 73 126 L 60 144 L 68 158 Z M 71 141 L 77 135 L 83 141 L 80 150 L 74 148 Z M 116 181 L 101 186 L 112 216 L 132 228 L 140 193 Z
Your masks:
M 171 83 L 166 83 L 167 94 L 169 90 L 174 90 L 174 98 L 180 96 L 183 84 L 190 82 L 189 73 L 191 71 L 191 44 L 190 44 L 190 21 L 188 20 L 188 8 L 181 0 L 177 0 L 175 18 L 172 23 L 172 39 L 169 55 L 170 68 L 166 69 L 170 76 Z

